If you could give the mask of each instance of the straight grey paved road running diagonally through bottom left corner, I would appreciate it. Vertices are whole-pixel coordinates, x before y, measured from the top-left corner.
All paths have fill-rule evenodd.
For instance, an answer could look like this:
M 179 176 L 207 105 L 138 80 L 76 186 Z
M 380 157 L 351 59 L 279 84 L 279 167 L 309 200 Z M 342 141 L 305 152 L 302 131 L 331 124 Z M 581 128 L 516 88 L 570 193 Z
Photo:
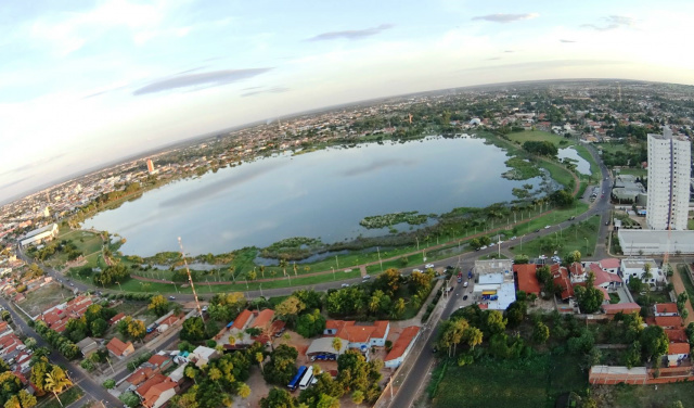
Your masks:
M 34 329 L 29 328 L 26 321 L 22 317 L 20 317 L 20 315 L 14 310 L 13 307 L 10 306 L 10 303 L 7 299 L 0 298 L 0 305 L 10 310 L 10 314 L 12 315 L 12 321 L 21 332 L 36 339 L 36 342 L 39 346 L 52 349 L 52 347 L 40 335 L 38 335 L 38 333 L 34 331 Z M 91 380 L 91 378 L 85 375 L 82 371 L 80 371 L 74 364 L 60 355 L 57 352 L 52 350 L 50 359 L 52 362 L 64 367 L 75 384 L 85 390 L 85 392 L 89 394 L 92 399 L 103 401 L 106 407 L 123 406 L 123 403 L 118 400 L 118 398 L 108 394 L 108 392 L 103 386 L 101 386 L 101 384 L 98 384 L 97 382 Z

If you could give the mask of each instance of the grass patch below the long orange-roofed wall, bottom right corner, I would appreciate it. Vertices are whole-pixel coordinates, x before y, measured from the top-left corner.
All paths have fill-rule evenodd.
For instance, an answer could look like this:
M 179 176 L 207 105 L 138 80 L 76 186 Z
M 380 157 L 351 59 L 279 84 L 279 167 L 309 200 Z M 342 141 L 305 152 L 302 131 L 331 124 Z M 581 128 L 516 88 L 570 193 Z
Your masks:
M 668 408 L 680 400 L 684 407 L 694 407 L 694 386 L 691 383 L 653 385 L 601 385 L 594 386 L 593 397 L 599 407 L 632 408 L 651 407 Z

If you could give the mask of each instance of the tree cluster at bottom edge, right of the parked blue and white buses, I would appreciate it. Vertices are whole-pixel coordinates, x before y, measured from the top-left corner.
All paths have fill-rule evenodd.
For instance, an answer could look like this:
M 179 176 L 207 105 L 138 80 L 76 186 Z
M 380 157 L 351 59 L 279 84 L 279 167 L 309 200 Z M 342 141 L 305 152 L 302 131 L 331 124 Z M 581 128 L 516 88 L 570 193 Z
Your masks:
M 313 375 L 318 380 L 316 385 L 301 391 L 298 398 L 295 398 L 284 390 L 287 380 L 281 384 L 282 388 L 271 390 L 270 394 L 260 400 L 260 407 L 337 408 L 339 398 L 345 395 L 349 395 L 355 404 L 373 403 L 381 395 L 378 382 L 382 368 L 383 361 L 367 361 L 360 353 L 349 350 L 337 358 L 336 379 L 327 372 L 321 372 L 319 366 L 313 366 Z

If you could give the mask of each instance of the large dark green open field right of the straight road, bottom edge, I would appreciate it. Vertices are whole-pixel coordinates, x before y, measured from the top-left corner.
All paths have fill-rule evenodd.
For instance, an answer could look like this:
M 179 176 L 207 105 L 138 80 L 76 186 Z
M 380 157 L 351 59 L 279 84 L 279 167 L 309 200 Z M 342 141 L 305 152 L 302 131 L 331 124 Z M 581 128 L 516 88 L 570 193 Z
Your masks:
M 432 375 L 440 375 L 440 369 Z M 588 385 L 578 361 L 567 356 L 538 356 L 529 361 L 485 361 L 449 365 L 436 387 L 435 408 L 554 407 L 566 392 Z M 429 390 L 432 392 L 432 390 Z

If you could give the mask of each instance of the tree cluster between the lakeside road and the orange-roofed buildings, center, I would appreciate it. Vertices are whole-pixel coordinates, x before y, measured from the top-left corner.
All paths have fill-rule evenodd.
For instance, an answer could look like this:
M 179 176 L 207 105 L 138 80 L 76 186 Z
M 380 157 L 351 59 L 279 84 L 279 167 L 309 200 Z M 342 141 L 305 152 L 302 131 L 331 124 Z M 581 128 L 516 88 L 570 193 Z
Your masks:
M 397 269 L 387 269 L 371 285 L 329 291 L 325 307 L 329 314 L 339 317 L 398 318 L 406 310 L 406 296 L 413 308 L 422 306 L 433 279 L 432 270 L 402 277 Z

